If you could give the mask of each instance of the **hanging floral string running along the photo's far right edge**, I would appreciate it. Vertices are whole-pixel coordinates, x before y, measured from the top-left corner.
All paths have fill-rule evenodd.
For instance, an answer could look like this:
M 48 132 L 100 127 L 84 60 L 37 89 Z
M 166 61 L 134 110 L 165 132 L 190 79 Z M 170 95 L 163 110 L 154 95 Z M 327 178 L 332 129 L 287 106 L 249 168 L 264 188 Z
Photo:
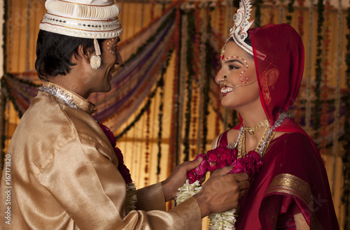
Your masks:
M 346 25 L 350 29 L 350 7 L 347 9 Z M 343 163 L 343 194 L 342 203 L 344 203 L 344 229 L 350 229 L 350 34 L 346 34 L 346 96 L 345 96 L 345 122 L 344 122 L 344 154 L 342 156 Z

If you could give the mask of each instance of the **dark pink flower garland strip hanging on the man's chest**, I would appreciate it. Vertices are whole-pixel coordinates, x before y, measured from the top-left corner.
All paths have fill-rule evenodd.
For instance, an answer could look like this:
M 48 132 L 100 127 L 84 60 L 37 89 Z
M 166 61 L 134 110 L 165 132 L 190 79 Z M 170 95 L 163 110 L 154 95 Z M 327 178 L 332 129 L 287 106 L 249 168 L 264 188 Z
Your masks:
M 109 142 L 111 142 L 111 145 L 113 147 L 114 152 L 116 153 L 116 156 L 117 156 L 118 162 L 119 162 L 118 171 L 120 172 L 120 174 L 123 175 L 125 183 L 128 184 L 128 183 L 132 182 L 130 171 L 127 168 L 127 166 L 125 166 L 125 164 L 124 164 L 123 153 L 122 153 L 122 151 L 120 151 L 120 149 L 118 149 L 116 147 L 117 142 L 116 142 L 116 138 L 114 137 L 113 132 L 111 131 L 111 129 L 109 129 L 109 127 L 106 127 L 101 122 L 97 122 L 97 123 L 102 128 L 102 130 L 104 131 L 104 134 L 106 134 L 107 138 L 109 138 Z

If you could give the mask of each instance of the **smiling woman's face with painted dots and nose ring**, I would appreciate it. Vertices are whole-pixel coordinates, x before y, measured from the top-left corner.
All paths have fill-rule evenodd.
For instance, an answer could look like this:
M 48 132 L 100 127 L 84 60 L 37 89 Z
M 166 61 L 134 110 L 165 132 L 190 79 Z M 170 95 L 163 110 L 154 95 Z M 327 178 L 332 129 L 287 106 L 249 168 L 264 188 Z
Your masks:
M 221 104 L 237 110 L 251 103 L 260 103 L 256 79 L 253 56 L 234 41 L 226 44 L 221 69 L 215 78 L 216 83 L 221 85 Z

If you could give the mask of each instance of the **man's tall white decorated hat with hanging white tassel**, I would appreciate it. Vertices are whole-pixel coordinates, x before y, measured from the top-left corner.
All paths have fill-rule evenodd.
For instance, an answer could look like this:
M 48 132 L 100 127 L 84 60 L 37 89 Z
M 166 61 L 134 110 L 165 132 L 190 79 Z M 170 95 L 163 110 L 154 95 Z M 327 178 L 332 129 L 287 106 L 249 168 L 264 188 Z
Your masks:
M 39 28 L 56 34 L 94 39 L 94 69 L 101 65 L 97 38 L 116 38 L 123 33 L 118 15 L 120 7 L 112 0 L 47 0 L 48 10 Z

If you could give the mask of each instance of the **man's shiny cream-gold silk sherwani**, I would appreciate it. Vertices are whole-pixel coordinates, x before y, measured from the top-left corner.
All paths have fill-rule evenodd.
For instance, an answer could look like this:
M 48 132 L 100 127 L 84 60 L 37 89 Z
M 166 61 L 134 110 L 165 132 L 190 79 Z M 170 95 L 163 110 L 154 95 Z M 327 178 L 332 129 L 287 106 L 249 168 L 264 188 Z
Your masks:
M 197 201 L 165 211 L 160 183 L 139 189 L 139 210 L 125 214 L 125 181 L 111 143 L 91 115 L 94 105 L 63 90 L 79 109 L 38 92 L 13 134 L 11 224 L 4 218 L 3 173 L 1 229 L 201 229 Z

